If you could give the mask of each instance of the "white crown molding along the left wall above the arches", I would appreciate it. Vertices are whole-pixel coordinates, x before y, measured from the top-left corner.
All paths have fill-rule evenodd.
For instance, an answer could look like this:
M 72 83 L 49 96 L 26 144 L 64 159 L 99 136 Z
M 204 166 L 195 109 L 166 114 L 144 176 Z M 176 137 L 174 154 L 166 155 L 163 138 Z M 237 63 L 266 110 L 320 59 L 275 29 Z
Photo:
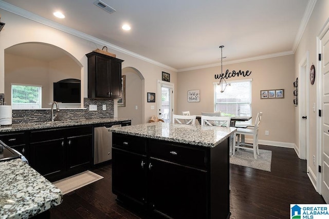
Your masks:
M 20 15 L 22 17 L 25 17 L 27 19 L 30 19 L 32 21 L 35 21 L 35 22 L 38 22 L 40 24 L 43 24 L 43 25 L 46 25 L 46 26 L 49 26 L 49 27 L 52 27 L 54 29 L 57 29 L 57 30 L 60 30 L 60 31 L 63 31 L 65 33 L 68 33 L 68 34 L 71 34 L 71 35 L 75 35 L 77 37 L 80 37 L 80 38 L 83 38 L 85 39 L 86 41 L 90 41 L 90 42 L 93 42 L 95 44 L 99 44 L 99 45 L 102 45 L 102 46 L 106 46 L 107 48 L 109 49 L 113 49 L 113 50 L 116 50 L 118 52 L 122 52 L 124 54 L 127 54 L 127 55 L 130 55 L 130 56 L 133 56 L 135 58 L 138 58 L 138 59 L 141 59 L 145 62 L 148 62 L 148 63 L 151 63 L 151 64 L 154 64 L 154 65 L 157 65 L 159 67 L 162 67 L 162 68 L 166 68 L 166 69 L 169 69 L 169 70 L 172 70 L 174 72 L 177 72 L 177 69 L 173 68 L 173 67 L 170 67 L 170 66 L 167 66 L 165 64 L 162 64 L 162 63 L 159 63 L 157 61 L 154 61 L 153 59 L 151 58 L 148 58 L 148 57 L 145 57 L 145 56 L 142 56 L 142 55 L 139 55 L 137 53 L 134 53 L 132 51 L 129 51 L 129 50 L 126 50 L 126 49 L 123 49 L 121 47 L 118 47 L 114 44 L 111 44 L 111 43 L 108 43 L 106 41 L 103 41 L 102 39 L 99 39 L 99 38 L 96 38 L 94 36 L 90 36 L 88 34 L 85 34 L 81 31 L 78 31 L 78 30 L 75 30 L 75 29 L 72 29 L 72 28 L 69 28 L 69 27 L 66 27 L 64 25 L 61 25 L 61 24 L 58 24 L 56 22 L 53 22 L 53 21 L 50 21 L 49 19 L 46 19 L 42 16 L 39 16 L 39 15 L 36 15 L 34 13 L 31 13 L 29 11 L 26 11 L 22 8 L 19 8 L 19 7 L 16 7 L 16 6 L 13 6 L 11 4 L 8 4 L 6 2 L 3 2 L 0 0 L 0 8 L 6 10 L 6 11 L 9 11 L 11 13 L 14 13 L 14 14 L 17 14 L 17 15 Z

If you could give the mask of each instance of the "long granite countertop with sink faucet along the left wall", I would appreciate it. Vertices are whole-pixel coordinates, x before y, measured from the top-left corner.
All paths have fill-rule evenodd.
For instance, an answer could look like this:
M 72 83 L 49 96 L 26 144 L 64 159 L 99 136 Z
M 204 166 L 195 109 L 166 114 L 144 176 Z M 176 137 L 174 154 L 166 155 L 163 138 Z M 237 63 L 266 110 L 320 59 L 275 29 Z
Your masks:
M 47 128 L 57 128 L 57 127 L 69 127 L 69 126 L 81 126 L 81 125 L 93 125 L 99 123 L 112 123 L 131 120 L 131 118 L 90 118 L 82 120 L 69 120 L 69 121 L 54 121 L 54 122 L 40 122 L 40 123 L 22 123 L 13 124 L 8 126 L 0 126 L 1 132 L 12 132 L 12 131 L 25 131 L 32 129 L 47 129 Z

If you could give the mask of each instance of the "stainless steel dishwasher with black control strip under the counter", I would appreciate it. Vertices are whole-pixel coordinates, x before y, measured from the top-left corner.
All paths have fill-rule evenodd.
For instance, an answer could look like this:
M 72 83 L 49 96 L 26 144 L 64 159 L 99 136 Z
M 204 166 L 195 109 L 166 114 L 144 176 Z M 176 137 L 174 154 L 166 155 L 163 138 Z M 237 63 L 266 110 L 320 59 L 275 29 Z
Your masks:
M 112 132 L 108 128 L 130 125 L 131 121 L 94 125 L 94 164 L 112 159 Z

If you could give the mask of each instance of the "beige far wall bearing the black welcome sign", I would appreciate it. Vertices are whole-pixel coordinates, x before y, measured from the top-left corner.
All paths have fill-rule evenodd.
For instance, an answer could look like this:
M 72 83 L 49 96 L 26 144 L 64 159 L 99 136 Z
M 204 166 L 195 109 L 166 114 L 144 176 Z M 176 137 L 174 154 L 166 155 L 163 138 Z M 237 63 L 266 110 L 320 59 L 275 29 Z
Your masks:
M 252 78 L 252 122 L 258 112 L 263 112 L 260 142 L 268 145 L 294 147 L 295 106 L 293 82 L 295 81 L 294 55 L 266 58 L 258 61 L 224 65 L 226 70 L 251 71 L 248 77 L 231 77 L 231 80 Z M 177 73 L 178 86 L 176 113 L 189 110 L 192 114 L 213 112 L 213 82 L 221 66 Z M 283 99 L 261 99 L 260 90 L 284 89 Z M 200 102 L 188 103 L 187 91 L 200 90 Z M 269 135 L 265 135 L 265 130 Z

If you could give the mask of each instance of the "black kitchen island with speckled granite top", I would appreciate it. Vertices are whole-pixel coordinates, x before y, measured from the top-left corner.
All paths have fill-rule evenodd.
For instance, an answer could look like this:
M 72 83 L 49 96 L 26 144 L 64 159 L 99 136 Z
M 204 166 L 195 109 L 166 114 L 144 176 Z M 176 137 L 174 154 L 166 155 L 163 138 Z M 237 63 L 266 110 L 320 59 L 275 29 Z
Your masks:
M 148 123 L 112 128 L 112 191 L 152 217 L 229 218 L 236 128 Z

